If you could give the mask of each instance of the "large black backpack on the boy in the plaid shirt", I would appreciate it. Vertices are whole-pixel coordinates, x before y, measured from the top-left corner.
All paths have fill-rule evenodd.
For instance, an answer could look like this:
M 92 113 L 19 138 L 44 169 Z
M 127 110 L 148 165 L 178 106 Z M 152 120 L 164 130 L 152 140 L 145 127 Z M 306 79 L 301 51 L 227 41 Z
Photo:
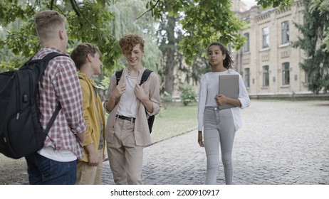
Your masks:
M 60 55 L 63 54 L 49 53 L 41 60 L 28 60 L 19 70 L 0 73 L 1 154 L 18 159 L 43 147 L 61 104 L 43 130 L 37 102 L 38 81 L 48 62 Z

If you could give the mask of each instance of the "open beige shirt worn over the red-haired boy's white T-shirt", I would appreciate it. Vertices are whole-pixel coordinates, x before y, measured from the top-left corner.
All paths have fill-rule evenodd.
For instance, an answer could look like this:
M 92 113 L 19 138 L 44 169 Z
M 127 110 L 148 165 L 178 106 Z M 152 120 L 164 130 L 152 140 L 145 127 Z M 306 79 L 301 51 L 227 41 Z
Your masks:
M 138 82 L 140 82 L 142 78 L 142 73 L 144 72 L 145 68 L 142 68 L 140 70 L 140 75 L 138 77 Z M 125 77 L 127 75 L 127 68 L 123 69 L 121 78 L 118 82 L 118 85 L 125 82 Z M 106 109 L 106 104 L 108 103 L 109 97 L 113 90 L 116 87 L 117 79 L 115 77 L 115 74 L 112 75 L 110 79 L 110 85 L 108 87 L 108 94 L 106 96 L 104 107 L 106 112 L 108 112 L 108 109 Z M 155 74 L 155 72 L 151 72 L 150 77 L 147 79 L 146 82 L 142 85 L 145 94 L 149 96 L 150 100 L 153 102 L 153 112 L 147 112 L 142 102 L 138 102 L 137 104 L 137 116 L 135 120 L 135 141 L 137 146 L 147 146 L 149 144 L 152 144 L 151 136 L 150 136 L 150 130 L 147 124 L 147 118 L 151 115 L 158 114 L 160 112 L 161 107 L 161 101 L 160 101 L 160 80 Z M 138 99 L 137 99 L 138 100 Z M 115 105 L 113 110 L 109 113 L 108 116 L 108 122 L 106 124 L 106 141 L 109 143 L 113 142 L 114 138 L 114 132 L 115 132 L 115 122 L 117 121 L 117 118 L 115 115 L 117 114 L 117 107 L 119 107 L 119 103 Z

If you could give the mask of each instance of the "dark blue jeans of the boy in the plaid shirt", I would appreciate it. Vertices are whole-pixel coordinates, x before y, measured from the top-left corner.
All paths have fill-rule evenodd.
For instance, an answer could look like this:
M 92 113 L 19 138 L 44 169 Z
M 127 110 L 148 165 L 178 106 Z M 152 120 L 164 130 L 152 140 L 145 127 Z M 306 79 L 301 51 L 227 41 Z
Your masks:
M 60 162 L 33 153 L 25 157 L 31 185 L 74 185 L 76 161 Z

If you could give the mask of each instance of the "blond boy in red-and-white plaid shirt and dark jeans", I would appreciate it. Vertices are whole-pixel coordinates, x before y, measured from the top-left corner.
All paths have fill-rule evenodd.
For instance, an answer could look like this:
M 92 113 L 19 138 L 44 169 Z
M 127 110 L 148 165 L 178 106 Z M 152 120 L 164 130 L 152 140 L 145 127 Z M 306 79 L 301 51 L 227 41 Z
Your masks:
M 52 52 L 67 55 L 65 18 L 57 11 L 49 10 L 38 12 L 34 20 L 41 50 L 33 60 Z M 76 161 L 83 158 L 80 142 L 85 139 L 86 127 L 82 92 L 73 60 L 64 55 L 50 60 L 38 85 L 38 109 L 43 129 L 46 129 L 58 104 L 61 104 L 61 110 L 48 132 L 43 148 L 25 156 L 29 183 L 74 184 Z

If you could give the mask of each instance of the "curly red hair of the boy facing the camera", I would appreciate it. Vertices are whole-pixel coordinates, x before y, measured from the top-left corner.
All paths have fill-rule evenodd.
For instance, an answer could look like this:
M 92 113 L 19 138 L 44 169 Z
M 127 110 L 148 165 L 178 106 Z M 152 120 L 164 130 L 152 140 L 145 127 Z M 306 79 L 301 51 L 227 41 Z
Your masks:
M 140 50 L 144 51 L 144 43 L 145 41 L 142 39 L 142 37 L 135 34 L 125 35 L 119 41 L 121 52 L 124 55 L 130 53 L 132 48 L 134 48 L 137 44 L 140 44 Z

